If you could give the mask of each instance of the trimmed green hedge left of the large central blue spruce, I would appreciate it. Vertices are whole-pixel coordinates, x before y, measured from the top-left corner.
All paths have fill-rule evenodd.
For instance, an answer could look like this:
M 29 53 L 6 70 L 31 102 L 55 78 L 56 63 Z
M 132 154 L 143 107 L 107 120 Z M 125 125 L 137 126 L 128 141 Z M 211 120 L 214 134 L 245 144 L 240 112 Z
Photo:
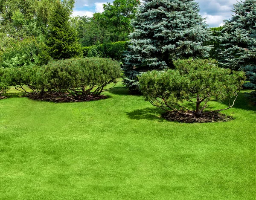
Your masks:
M 128 48 L 127 41 L 103 43 L 95 46 L 83 47 L 84 57 L 102 57 L 112 58 L 116 61 L 122 61 L 124 51 Z

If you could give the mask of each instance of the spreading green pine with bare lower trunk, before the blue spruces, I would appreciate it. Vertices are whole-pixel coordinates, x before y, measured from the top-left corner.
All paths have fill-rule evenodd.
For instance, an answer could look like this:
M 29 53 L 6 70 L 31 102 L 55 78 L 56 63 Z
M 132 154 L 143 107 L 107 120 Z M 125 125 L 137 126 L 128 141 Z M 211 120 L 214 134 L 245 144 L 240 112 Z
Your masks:
M 196 117 L 204 112 L 209 101 L 224 101 L 228 98 L 229 106 L 207 113 L 233 107 L 244 84 L 244 72 L 219 68 L 215 60 L 207 59 L 178 60 L 174 64 L 176 70 L 154 70 L 139 78 L 145 100 L 163 110 Z

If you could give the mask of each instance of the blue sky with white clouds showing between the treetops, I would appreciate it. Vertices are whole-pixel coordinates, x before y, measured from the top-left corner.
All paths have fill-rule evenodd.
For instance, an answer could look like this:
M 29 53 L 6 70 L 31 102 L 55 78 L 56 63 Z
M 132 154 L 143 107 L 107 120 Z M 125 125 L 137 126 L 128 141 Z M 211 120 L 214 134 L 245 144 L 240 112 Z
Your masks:
M 207 17 L 207 23 L 210 27 L 220 26 L 225 19 L 231 18 L 231 10 L 236 0 L 195 0 L 199 3 L 203 17 Z M 91 17 L 94 12 L 103 11 L 103 3 L 112 0 L 76 0 L 73 16 Z

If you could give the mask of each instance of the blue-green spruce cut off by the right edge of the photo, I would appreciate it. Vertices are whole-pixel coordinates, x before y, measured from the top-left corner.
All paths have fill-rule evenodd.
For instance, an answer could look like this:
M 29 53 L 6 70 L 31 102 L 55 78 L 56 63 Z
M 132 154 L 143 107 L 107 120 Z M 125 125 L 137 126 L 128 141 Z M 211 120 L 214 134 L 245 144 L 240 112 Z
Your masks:
M 221 67 L 244 70 L 250 82 L 245 86 L 256 90 L 256 0 L 234 4 L 233 17 L 225 20 L 219 55 Z M 253 93 L 256 101 L 256 92 Z

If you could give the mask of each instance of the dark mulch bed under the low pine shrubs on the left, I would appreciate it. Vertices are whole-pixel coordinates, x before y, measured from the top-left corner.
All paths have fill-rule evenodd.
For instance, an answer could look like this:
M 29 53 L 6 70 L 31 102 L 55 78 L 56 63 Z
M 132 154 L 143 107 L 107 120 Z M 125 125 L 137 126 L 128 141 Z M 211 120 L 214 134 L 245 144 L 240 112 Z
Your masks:
M 29 99 L 37 101 L 51 101 L 56 103 L 67 103 L 67 102 L 82 102 L 82 101 L 96 101 L 100 99 L 107 99 L 107 96 L 103 95 L 88 95 L 88 96 L 67 96 L 62 93 L 31 93 L 27 95 Z

